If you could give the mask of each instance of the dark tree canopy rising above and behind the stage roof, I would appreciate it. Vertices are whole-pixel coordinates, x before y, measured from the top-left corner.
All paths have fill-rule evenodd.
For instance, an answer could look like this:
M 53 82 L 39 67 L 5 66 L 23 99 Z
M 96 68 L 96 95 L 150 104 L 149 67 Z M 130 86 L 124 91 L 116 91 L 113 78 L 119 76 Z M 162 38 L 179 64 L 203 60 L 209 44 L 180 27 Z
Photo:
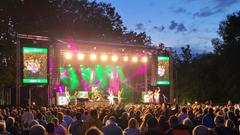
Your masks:
M 150 45 L 146 33 L 128 31 L 111 4 L 88 0 L 0 1 L 2 40 L 16 33 L 53 38 Z

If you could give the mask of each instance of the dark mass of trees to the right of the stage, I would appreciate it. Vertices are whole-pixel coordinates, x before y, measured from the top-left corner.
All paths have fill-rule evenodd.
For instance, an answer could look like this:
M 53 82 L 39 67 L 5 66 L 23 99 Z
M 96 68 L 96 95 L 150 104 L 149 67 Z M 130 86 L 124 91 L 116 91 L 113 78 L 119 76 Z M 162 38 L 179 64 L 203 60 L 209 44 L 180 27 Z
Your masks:
M 181 102 L 240 101 L 240 12 L 219 25 L 220 38 L 212 40 L 213 53 L 192 57 L 190 46 L 174 55 L 176 95 Z

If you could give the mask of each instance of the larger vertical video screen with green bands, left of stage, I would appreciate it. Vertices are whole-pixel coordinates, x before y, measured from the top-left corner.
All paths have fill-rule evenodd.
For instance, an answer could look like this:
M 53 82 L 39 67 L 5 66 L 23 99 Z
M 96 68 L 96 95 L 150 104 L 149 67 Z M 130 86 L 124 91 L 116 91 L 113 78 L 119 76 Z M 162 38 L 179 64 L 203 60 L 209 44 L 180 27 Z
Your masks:
M 48 49 L 23 47 L 23 83 L 48 83 Z

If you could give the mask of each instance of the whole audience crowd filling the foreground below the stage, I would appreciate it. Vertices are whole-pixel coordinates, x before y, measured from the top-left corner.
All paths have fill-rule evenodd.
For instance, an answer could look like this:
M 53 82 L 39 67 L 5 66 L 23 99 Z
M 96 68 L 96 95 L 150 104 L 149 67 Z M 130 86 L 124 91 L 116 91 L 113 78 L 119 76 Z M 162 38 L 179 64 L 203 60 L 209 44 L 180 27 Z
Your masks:
M 0 135 L 239 135 L 238 105 L 0 109 Z

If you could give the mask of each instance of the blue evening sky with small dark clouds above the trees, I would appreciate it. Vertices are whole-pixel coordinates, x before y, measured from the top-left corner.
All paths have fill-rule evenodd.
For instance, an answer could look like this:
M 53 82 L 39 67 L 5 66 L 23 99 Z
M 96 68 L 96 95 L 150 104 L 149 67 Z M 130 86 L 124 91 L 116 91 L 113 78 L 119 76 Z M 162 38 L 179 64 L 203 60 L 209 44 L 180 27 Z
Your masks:
M 179 48 L 189 44 L 201 53 L 212 51 L 220 21 L 240 10 L 240 0 L 97 0 L 111 3 L 124 26 L 146 32 L 154 44 Z

